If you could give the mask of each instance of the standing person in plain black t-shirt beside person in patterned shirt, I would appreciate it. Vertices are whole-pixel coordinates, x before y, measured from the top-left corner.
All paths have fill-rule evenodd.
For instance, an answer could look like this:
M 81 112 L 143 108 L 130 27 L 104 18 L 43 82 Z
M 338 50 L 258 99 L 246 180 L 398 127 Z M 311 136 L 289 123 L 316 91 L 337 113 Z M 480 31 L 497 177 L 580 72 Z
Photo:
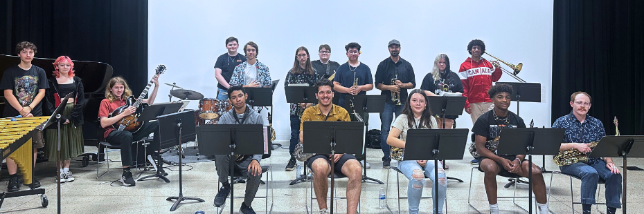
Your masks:
M 246 61 L 246 57 L 238 54 L 238 48 L 239 40 L 235 37 L 229 37 L 226 39 L 226 50 L 228 50 L 228 52 L 217 57 L 217 61 L 215 62 L 217 99 L 219 100 L 228 100 L 226 90 L 231 86 L 229 81 L 231 81 L 231 77 L 233 76 L 233 69 Z

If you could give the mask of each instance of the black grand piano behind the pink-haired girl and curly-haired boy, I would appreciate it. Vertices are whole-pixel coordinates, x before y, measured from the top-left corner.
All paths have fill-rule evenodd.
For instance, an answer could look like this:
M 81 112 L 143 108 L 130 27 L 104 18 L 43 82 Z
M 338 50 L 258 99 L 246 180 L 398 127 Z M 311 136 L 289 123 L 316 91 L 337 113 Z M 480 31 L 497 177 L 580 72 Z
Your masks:
M 47 77 L 53 76 L 53 62 L 55 59 L 34 58 L 31 64 L 45 70 Z M 114 69 L 109 65 L 97 61 L 74 62 L 74 74 L 82 79 L 84 86 L 85 101 L 83 106 L 84 124 L 82 126 L 85 145 L 96 145 L 98 139 L 96 129 L 98 128 L 98 106 L 105 98 L 105 86 L 111 78 Z M 4 71 L 11 66 L 20 63 L 17 56 L 0 55 L 0 78 Z M 0 113 L 4 110 L 6 101 L 0 93 Z M 11 107 L 9 107 L 11 108 Z

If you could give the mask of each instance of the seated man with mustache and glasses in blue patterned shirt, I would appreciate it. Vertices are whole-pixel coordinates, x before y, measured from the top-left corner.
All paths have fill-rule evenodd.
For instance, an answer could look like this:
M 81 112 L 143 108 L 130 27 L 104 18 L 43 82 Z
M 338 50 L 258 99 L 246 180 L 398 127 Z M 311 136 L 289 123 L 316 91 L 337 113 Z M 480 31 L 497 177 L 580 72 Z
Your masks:
M 578 91 L 570 96 L 571 113 L 560 117 L 553 128 L 566 128 L 566 135 L 559 150 L 575 148 L 582 153 L 590 153 L 591 142 L 598 142 L 606 135 L 604 124 L 595 117 L 588 115 L 591 107 L 591 97 L 585 92 Z M 622 175 L 619 168 L 610 157 L 589 158 L 588 162 L 560 166 L 562 173 L 574 175 L 582 179 L 581 197 L 584 214 L 591 213 L 591 205 L 595 204 L 595 193 L 600 179 L 606 186 L 606 213 L 615 213 L 621 207 Z

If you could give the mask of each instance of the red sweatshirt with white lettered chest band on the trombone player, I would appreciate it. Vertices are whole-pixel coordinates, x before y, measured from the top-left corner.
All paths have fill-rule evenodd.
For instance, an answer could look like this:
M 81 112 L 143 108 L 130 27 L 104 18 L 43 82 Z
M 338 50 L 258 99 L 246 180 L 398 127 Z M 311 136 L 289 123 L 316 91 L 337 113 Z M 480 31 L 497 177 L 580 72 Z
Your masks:
M 458 68 L 458 77 L 463 82 L 463 96 L 467 97 L 465 108 L 469 108 L 469 103 L 491 102 L 488 90 L 492 82 L 501 79 L 501 74 L 501 68 L 494 68 L 490 61 L 483 58 L 475 61 L 467 57 Z

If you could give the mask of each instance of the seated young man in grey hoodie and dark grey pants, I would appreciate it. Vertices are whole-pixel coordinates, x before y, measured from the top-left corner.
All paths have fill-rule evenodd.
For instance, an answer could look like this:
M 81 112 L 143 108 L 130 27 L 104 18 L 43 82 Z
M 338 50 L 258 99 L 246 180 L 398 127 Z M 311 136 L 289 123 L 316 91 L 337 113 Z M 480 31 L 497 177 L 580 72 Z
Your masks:
M 233 108 L 224 113 L 217 124 L 264 124 L 262 116 L 246 104 L 248 95 L 243 86 L 235 85 L 228 88 L 228 97 L 228 101 Z M 233 170 L 242 173 L 248 178 L 246 181 L 246 195 L 244 195 L 240 213 L 255 213 L 251 204 L 260 187 L 260 178 L 262 177 L 261 159 L 262 154 L 242 155 L 235 159 L 235 168 Z M 224 205 L 226 197 L 231 193 L 231 184 L 228 182 L 228 178 L 234 173 L 231 173 L 230 166 L 231 155 L 215 155 L 215 167 L 217 168 L 217 175 L 219 175 L 219 182 L 222 183 L 222 187 L 215 195 L 215 201 L 213 202 L 215 206 Z

